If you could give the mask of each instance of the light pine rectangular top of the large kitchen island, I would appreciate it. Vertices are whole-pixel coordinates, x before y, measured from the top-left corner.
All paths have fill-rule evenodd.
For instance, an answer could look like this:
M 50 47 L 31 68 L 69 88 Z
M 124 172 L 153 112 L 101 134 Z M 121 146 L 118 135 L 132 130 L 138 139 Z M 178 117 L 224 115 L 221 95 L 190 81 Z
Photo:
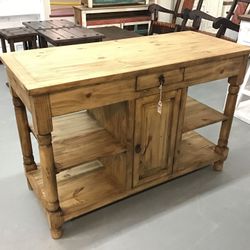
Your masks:
M 248 55 L 250 48 L 186 31 L 1 54 L 29 94 L 44 94 Z

